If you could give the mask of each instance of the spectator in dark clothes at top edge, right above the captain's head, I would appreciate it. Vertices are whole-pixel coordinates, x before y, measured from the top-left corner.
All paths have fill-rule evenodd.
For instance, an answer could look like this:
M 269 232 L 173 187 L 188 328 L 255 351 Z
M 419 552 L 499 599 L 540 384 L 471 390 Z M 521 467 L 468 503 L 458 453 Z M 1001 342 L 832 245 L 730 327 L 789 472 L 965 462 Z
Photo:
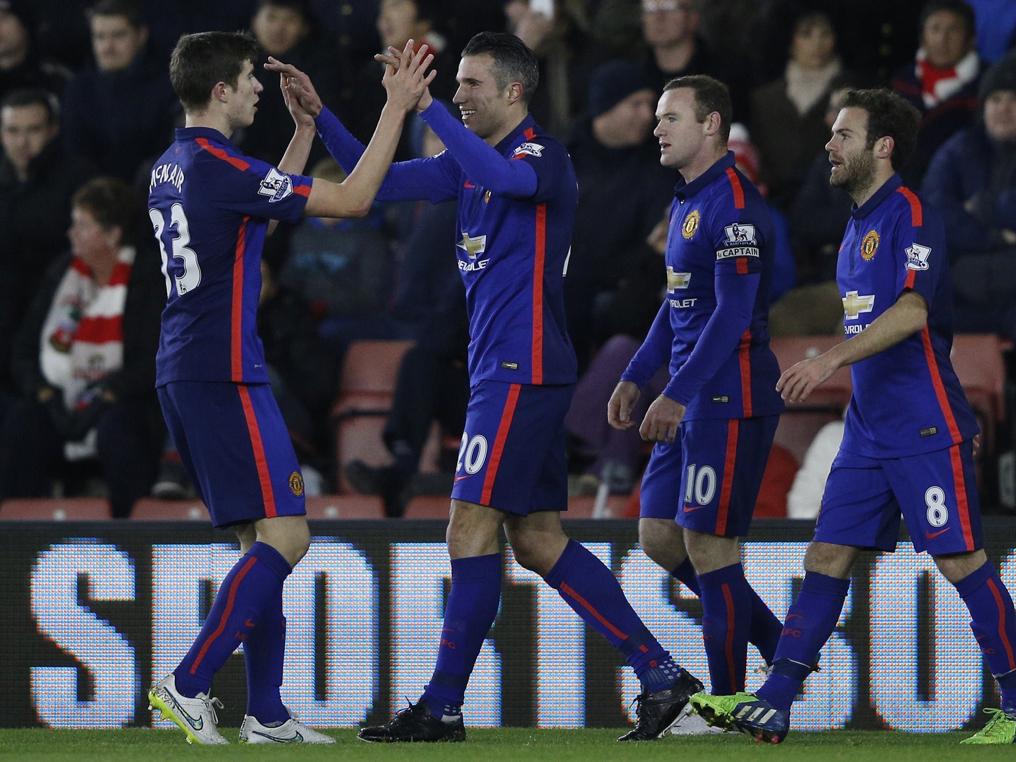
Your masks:
M 731 88 L 734 121 L 747 122 L 747 70 L 733 50 L 710 51 L 699 35 L 702 0 L 642 0 L 643 66 L 653 92 L 675 77 L 708 74 Z

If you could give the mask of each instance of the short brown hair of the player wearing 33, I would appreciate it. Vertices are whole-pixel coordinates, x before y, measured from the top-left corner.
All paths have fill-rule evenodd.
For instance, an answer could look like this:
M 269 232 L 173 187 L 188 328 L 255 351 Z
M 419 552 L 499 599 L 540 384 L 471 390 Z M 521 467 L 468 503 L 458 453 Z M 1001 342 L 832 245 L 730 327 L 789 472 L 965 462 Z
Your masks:
M 257 41 L 240 31 L 199 31 L 184 35 L 170 58 L 170 81 L 188 112 L 200 112 L 218 82 L 237 86 L 247 61 L 258 60 Z

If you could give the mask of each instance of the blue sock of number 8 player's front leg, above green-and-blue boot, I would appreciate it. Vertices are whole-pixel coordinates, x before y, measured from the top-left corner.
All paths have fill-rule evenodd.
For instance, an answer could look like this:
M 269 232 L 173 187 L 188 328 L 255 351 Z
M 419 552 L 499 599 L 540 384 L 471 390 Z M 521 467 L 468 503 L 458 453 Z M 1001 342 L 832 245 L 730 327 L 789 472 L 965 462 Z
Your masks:
M 797 600 L 786 613 L 772 674 L 758 690 L 777 709 L 789 711 L 822 646 L 836 629 L 849 579 L 806 572 Z

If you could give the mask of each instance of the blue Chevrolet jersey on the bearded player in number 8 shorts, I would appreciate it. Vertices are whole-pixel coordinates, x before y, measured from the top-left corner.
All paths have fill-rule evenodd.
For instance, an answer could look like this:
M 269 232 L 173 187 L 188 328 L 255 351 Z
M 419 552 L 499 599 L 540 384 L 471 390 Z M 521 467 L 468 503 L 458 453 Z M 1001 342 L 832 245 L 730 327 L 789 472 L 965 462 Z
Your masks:
M 910 289 L 928 302 L 928 325 L 850 367 L 853 396 L 842 449 L 898 458 L 951 447 L 977 433 L 949 353 L 952 281 L 938 213 L 898 175 L 855 207 L 836 264 L 847 337 Z

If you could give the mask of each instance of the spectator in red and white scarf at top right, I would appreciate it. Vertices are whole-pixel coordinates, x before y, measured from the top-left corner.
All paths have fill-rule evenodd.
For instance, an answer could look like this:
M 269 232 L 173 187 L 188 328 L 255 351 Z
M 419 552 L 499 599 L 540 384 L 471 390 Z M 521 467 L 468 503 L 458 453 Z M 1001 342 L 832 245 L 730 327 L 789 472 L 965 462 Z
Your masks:
M 973 123 L 980 58 L 975 50 L 973 9 L 962 0 L 931 0 L 920 11 L 920 47 L 900 68 L 892 87 L 922 114 L 917 149 L 900 173 L 920 184 L 928 163 L 951 135 Z

